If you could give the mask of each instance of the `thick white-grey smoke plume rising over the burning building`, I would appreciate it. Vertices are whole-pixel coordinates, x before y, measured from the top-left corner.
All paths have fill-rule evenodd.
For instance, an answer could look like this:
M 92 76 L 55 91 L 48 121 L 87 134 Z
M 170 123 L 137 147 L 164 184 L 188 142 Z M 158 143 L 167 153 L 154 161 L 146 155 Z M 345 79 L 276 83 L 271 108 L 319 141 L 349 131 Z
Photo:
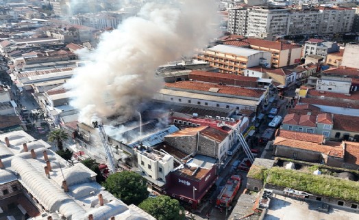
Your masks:
M 95 51 L 69 81 L 79 109 L 79 122 L 132 118 L 140 103 L 160 90 L 156 68 L 203 48 L 216 31 L 214 2 L 185 0 L 171 5 L 147 3 L 138 16 L 123 21 L 118 29 L 103 33 Z

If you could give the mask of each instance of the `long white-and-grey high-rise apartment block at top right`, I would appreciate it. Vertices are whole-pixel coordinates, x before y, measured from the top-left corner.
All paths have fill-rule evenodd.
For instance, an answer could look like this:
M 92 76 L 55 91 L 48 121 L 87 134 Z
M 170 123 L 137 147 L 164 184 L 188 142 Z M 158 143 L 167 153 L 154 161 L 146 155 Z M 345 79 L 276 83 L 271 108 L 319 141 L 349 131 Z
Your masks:
M 354 24 L 351 8 L 232 8 L 228 31 L 245 36 L 295 36 L 304 34 L 346 33 Z

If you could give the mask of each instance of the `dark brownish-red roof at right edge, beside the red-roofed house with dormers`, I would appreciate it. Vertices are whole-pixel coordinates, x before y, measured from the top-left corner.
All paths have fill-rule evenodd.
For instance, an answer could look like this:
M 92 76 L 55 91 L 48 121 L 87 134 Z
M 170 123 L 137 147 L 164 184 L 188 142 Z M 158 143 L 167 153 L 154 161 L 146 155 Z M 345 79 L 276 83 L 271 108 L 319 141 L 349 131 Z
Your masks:
M 359 133 L 359 117 L 334 114 L 333 129 Z

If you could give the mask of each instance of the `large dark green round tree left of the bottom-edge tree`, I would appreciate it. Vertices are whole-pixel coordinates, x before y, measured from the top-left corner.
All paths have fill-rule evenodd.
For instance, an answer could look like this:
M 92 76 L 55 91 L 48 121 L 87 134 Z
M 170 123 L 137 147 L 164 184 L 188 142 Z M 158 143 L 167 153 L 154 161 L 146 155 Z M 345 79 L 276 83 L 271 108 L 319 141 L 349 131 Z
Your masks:
M 137 206 L 149 195 L 147 180 L 132 171 L 111 174 L 103 183 L 103 187 L 127 205 Z

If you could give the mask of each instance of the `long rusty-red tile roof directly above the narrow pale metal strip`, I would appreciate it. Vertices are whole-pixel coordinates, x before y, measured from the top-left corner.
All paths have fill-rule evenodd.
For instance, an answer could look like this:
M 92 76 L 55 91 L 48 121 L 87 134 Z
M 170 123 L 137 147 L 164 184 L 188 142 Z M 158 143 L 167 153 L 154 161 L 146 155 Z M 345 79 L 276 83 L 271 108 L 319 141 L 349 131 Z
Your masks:
M 209 92 L 210 88 L 219 89 L 219 94 L 230 94 L 235 96 L 247 96 L 260 98 L 263 94 L 263 90 L 247 89 L 243 87 L 234 87 L 230 85 L 218 85 L 214 83 L 203 83 L 198 81 L 179 81 L 176 83 L 165 83 L 165 87 L 184 89 L 184 90 L 197 90 Z

